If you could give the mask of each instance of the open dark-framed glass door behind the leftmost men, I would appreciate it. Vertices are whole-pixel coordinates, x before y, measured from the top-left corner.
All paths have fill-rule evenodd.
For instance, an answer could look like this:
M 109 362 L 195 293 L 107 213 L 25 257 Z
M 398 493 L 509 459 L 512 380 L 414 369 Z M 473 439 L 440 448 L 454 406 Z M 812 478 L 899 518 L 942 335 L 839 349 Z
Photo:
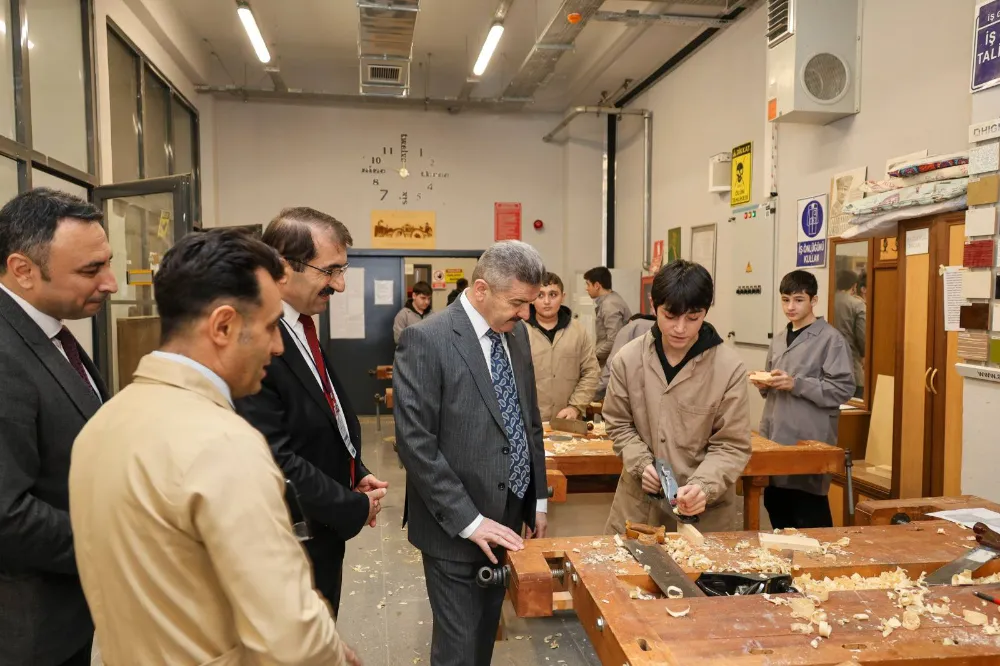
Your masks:
M 112 394 L 132 381 L 139 359 L 160 344 L 153 275 L 163 255 L 192 229 L 191 176 L 94 188 L 111 244 L 118 293 L 97 321 L 95 360 Z

